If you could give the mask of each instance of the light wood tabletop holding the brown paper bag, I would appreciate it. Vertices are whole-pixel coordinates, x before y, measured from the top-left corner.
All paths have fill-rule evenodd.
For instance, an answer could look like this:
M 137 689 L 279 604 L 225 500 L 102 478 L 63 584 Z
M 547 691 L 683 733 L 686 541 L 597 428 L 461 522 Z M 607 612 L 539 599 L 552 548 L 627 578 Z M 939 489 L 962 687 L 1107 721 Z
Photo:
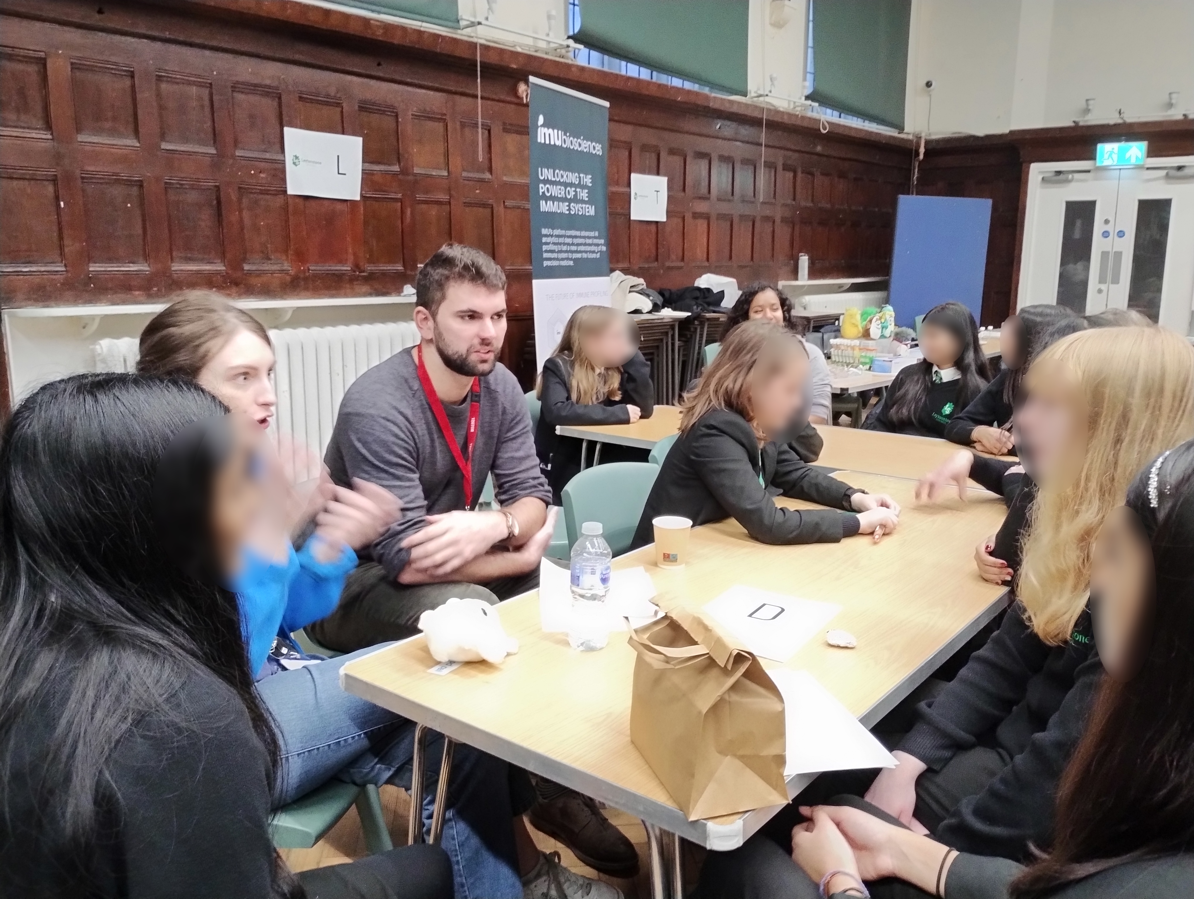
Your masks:
M 856 536 L 773 547 L 750 540 L 730 519 L 694 530 L 693 561 L 683 569 L 656 567 L 651 547 L 614 565 L 646 566 L 661 601 L 691 606 L 737 584 L 842 605 L 831 626 L 854 634 L 857 648 L 813 639 L 788 665 L 811 672 L 869 727 L 1003 608 L 1004 589 L 979 578 L 973 549 L 998 528 L 1004 507 L 979 491 L 965 504 L 916 506 L 912 481 L 841 476 L 892 494 L 904 506 L 899 529 L 879 543 Z M 521 647 L 500 665 L 469 663 L 444 676 L 430 673 L 436 661 L 420 635 L 349 663 L 341 685 L 709 848 L 739 845 L 777 811 L 688 821 L 630 743 L 635 655 L 626 635 L 611 634 L 599 652 L 574 652 L 564 634 L 541 632 L 536 592 L 503 603 L 498 614 Z M 789 781 L 789 794 L 810 780 Z

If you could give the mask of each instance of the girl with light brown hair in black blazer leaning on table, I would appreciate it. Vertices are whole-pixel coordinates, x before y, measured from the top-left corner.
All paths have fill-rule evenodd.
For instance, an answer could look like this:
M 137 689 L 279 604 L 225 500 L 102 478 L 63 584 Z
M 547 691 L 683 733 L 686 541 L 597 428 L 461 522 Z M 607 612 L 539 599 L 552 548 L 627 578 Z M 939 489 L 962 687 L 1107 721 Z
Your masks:
M 755 540 L 776 544 L 837 542 L 896 528 L 899 506 L 891 497 L 821 474 L 776 442 L 800 410 L 807 372 L 808 353 L 790 331 L 746 321 L 731 332 L 684 398 L 679 438 L 647 498 L 635 547 L 652 541 L 651 522 L 660 515 L 694 524 L 733 517 Z M 829 509 L 784 509 L 775 495 Z

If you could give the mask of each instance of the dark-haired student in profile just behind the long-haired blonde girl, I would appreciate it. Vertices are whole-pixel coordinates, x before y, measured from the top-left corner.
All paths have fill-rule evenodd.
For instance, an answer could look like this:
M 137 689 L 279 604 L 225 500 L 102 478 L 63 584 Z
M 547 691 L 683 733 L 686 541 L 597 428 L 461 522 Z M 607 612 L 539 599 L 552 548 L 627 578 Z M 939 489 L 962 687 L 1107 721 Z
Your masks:
M 1036 303 L 1009 315 L 999 328 L 1003 369 L 971 404 L 946 425 L 946 439 L 973 445 L 992 456 L 1015 452 L 1011 441 L 1011 412 L 1028 363 L 1045 346 L 1046 337 L 1063 319 L 1079 321 L 1064 306 Z M 1064 337 L 1065 334 L 1060 334 Z

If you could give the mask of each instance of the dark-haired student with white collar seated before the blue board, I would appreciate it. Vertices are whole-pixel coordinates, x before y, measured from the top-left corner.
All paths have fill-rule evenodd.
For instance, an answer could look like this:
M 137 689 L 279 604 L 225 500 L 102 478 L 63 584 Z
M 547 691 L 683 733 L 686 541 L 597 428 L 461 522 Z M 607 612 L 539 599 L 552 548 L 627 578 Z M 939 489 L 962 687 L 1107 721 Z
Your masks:
M 944 437 L 946 425 L 990 380 L 978 325 L 961 303 L 934 306 L 921 322 L 924 359 L 901 369 L 862 427 Z

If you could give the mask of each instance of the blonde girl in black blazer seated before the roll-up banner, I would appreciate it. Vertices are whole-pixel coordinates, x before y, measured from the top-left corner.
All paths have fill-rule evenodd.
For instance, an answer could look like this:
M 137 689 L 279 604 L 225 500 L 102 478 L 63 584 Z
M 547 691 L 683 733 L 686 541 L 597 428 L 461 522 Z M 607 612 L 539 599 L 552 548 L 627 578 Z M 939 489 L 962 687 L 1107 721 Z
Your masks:
M 621 309 L 581 306 L 564 326 L 555 352 L 543 363 L 535 451 L 554 503 L 580 470 L 581 442 L 560 437 L 556 425 L 624 425 L 654 412 L 651 367 L 639 352 L 639 330 Z M 610 444 L 604 462 L 645 462 L 642 450 Z

